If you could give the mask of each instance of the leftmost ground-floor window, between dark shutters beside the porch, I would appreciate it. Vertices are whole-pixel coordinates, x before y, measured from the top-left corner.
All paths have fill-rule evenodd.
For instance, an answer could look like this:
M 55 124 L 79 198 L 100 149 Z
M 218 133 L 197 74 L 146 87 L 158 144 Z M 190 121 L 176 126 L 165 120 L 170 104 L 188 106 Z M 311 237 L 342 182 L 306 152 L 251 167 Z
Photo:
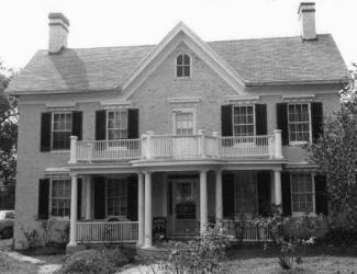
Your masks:
M 69 218 L 70 180 L 52 180 L 52 217 Z

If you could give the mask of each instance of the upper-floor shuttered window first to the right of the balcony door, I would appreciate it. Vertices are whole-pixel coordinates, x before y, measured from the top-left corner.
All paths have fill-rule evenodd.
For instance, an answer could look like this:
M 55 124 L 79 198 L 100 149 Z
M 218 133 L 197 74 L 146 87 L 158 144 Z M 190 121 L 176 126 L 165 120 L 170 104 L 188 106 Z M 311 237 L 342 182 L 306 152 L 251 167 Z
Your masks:
M 253 105 L 236 105 L 233 107 L 233 132 L 235 136 L 255 135 Z

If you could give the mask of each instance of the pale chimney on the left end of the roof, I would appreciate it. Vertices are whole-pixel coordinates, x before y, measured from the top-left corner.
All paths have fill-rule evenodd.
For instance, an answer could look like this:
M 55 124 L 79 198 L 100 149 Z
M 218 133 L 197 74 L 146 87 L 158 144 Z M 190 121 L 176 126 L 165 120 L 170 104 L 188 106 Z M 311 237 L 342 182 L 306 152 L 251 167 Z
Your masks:
M 49 41 L 48 53 L 57 54 L 67 47 L 69 20 L 60 12 L 51 12 L 49 19 Z

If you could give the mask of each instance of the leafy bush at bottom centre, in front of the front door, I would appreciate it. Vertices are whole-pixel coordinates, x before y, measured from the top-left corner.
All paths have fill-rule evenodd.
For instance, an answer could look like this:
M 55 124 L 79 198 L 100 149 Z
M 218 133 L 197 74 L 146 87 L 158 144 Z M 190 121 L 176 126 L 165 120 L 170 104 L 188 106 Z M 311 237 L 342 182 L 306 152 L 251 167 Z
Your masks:
M 161 269 L 166 273 L 219 273 L 225 262 L 225 248 L 228 246 L 225 229 L 217 224 L 207 228 L 202 236 L 188 242 L 177 242 Z

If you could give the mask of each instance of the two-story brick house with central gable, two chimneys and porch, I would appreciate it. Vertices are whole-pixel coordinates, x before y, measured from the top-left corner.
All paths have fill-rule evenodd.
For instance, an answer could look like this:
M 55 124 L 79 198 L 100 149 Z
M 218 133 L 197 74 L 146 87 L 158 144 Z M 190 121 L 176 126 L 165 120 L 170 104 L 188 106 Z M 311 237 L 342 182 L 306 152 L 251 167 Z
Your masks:
M 183 23 L 157 45 L 68 48 L 49 14 L 48 49 L 14 78 L 19 98 L 16 244 L 37 219 L 70 222 L 69 246 L 153 246 L 211 219 L 327 214 L 324 176 L 308 163 L 348 75 L 314 3 L 301 36 L 204 42 Z M 245 236 L 255 240 L 252 229 Z

